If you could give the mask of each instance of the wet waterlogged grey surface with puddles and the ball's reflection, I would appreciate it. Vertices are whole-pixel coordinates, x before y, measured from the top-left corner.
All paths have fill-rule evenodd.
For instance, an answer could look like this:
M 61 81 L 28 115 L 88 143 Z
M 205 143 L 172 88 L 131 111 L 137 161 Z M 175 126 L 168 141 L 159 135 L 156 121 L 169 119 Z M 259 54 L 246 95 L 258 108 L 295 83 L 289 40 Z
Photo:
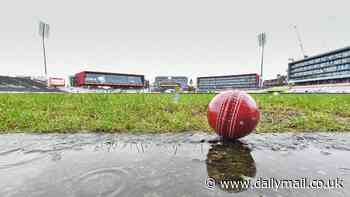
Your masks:
M 346 133 L 252 134 L 238 142 L 204 133 L 1 135 L 0 196 L 350 196 L 349 139 Z M 292 185 L 272 184 L 281 180 Z M 323 188 L 303 188 L 313 180 Z

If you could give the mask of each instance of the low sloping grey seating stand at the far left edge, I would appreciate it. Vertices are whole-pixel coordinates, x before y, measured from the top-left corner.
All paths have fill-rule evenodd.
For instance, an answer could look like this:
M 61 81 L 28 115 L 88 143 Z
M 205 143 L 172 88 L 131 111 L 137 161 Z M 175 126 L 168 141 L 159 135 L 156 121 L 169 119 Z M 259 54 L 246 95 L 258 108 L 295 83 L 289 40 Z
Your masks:
M 0 76 L 0 92 L 61 92 L 46 83 L 29 77 Z

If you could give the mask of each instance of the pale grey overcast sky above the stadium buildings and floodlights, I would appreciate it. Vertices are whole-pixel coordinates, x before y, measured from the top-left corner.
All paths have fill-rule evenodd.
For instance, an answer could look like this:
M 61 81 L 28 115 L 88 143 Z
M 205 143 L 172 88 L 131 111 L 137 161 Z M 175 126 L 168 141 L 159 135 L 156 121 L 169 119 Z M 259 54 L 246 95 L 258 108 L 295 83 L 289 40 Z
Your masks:
M 308 55 L 350 44 L 349 0 L 0 0 L 0 75 L 42 75 L 38 21 L 51 25 L 48 71 L 198 76 L 259 72 L 266 78 Z

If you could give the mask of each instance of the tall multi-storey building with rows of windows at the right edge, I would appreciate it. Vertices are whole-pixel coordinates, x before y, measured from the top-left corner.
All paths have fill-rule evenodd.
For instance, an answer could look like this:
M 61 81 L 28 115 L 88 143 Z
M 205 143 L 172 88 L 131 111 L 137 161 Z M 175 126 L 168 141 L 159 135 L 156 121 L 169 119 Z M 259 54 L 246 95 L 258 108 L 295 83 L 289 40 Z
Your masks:
M 288 64 L 288 83 L 314 85 L 350 82 L 350 47 Z

